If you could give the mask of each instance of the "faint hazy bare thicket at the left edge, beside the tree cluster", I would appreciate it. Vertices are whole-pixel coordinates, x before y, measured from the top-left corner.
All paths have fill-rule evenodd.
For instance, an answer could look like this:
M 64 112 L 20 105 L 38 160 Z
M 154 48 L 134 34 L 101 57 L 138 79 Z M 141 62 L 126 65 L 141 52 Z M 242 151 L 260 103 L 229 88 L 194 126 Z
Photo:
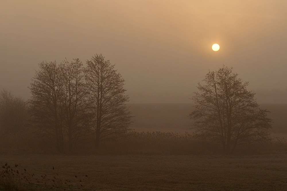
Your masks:
M 11 92 L 0 92 L 0 133 L 16 133 L 24 130 L 28 119 L 25 101 Z

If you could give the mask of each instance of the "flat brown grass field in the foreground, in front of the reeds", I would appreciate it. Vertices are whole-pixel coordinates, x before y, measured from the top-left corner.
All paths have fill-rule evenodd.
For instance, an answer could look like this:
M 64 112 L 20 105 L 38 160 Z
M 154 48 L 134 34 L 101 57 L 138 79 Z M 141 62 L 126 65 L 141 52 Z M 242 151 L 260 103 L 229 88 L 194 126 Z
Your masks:
M 287 190 L 286 157 L 0 155 L 0 165 L 34 174 L 34 190 Z

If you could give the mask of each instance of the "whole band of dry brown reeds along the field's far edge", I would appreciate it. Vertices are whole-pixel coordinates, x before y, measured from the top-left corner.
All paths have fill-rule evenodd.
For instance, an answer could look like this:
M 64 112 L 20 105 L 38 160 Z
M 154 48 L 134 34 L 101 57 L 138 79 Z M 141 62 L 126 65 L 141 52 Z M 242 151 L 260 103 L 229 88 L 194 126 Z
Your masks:
M 33 132 L 0 135 L 0 154 L 57 154 L 46 137 L 36 137 Z M 72 154 L 222 154 L 220 145 L 211 141 L 194 139 L 189 133 L 129 131 L 123 137 L 106 140 L 95 150 L 92 140 L 76 147 Z M 68 147 L 68 145 L 65 145 Z M 280 154 L 287 152 L 283 134 L 272 137 L 268 143 L 238 145 L 234 154 Z M 70 154 L 70 153 L 69 153 Z

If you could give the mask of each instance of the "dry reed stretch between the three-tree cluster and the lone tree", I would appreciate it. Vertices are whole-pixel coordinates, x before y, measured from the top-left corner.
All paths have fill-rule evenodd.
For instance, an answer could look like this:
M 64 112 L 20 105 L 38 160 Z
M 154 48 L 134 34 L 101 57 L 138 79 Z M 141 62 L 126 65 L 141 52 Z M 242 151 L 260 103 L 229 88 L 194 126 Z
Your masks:
M 100 154 L 207 154 L 204 141 L 194 140 L 190 134 L 172 132 L 136 132 L 114 141 L 101 143 Z M 211 149 L 213 149 L 212 147 Z

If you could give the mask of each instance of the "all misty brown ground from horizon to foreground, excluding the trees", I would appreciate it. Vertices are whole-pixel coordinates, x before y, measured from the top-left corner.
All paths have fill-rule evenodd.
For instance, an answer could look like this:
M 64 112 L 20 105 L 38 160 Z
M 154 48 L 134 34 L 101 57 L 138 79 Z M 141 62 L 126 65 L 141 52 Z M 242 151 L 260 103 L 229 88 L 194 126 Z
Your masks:
M 262 106 L 274 119 L 271 143 L 243 145 L 234 155 L 222 155 L 218 146 L 192 139 L 186 117 L 191 104 L 129 107 L 136 116 L 133 131 L 102 143 L 96 153 L 88 149 L 92 143 L 65 155 L 44 139 L 2 135 L 2 170 L 13 168 L 12 182 L 22 185 L 18 191 L 287 190 L 287 105 Z M 0 176 L 0 190 L 3 181 Z

